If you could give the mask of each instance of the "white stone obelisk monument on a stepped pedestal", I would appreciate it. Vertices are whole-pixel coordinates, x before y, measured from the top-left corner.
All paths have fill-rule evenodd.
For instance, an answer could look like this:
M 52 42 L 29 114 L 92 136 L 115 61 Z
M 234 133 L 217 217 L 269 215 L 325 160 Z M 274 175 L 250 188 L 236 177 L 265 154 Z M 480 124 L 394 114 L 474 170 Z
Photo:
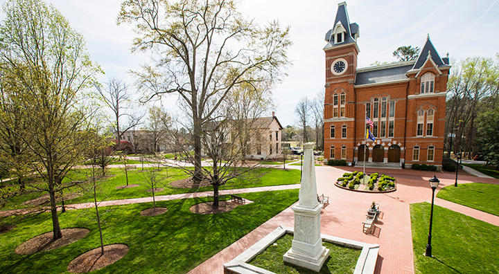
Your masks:
M 284 262 L 319 272 L 329 257 L 329 249 L 322 246 L 321 209 L 322 204 L 317 201 L 313 144 L 307 143 L 304 145 L 299 201 L 292 207 L 295 211 L 295 235 L 292 247 L 283 256 Z

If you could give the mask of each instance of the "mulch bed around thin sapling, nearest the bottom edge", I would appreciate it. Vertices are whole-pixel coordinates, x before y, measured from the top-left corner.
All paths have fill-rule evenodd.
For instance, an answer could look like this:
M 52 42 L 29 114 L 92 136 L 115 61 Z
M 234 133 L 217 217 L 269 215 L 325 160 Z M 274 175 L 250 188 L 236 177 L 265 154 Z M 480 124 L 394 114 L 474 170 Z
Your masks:
M 69 263 L 68 271 L 71 273 L 87 273 L 109 266 L 125 257 L 128 253 L 128 246 L 125 244 L 111 244 L 104 246 L 104 254 L 100 252 L 100 247 L 98 247 L 83 253 Z

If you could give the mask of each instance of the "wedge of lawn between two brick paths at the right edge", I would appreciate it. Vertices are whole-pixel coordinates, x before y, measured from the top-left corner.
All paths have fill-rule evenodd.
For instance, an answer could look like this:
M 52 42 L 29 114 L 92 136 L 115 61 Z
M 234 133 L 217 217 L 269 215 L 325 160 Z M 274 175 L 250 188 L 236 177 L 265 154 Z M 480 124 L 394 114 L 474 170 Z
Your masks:
M 448 185 L 438 192 L 437 197 L 499 216 L 499 185 L 461 183 L 457 188 Z

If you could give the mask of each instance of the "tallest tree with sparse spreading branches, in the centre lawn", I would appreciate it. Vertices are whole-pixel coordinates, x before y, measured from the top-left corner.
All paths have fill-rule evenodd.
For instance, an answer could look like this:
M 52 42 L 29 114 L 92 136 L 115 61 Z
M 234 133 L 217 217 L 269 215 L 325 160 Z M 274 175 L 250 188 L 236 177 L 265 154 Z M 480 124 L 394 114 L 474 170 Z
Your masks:
M 135 24 L 133 51 L 158 55 L 134 74 L 146 100 L 177 93 L 190 109 L 194 179 L 202 179 L 202 128 L 236 86 L 281 80 L 289 29 L 257 26 L 226 0 L 127 0 L 119 23 Z

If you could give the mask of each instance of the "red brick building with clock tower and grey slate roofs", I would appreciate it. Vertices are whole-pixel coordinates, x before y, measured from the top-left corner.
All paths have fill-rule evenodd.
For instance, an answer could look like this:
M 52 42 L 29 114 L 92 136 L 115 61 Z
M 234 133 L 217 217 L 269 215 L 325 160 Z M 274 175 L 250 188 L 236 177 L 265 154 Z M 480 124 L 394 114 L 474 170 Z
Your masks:
M 441 167 L 448 57 L 441 58 L 427 37 L 417 60 L 358 69 L 358 37 L 347 4 L 339 3 L 324 47 L 324 161 Z M 374 122 L 375 142 L 366 141 L 366 116 Z

